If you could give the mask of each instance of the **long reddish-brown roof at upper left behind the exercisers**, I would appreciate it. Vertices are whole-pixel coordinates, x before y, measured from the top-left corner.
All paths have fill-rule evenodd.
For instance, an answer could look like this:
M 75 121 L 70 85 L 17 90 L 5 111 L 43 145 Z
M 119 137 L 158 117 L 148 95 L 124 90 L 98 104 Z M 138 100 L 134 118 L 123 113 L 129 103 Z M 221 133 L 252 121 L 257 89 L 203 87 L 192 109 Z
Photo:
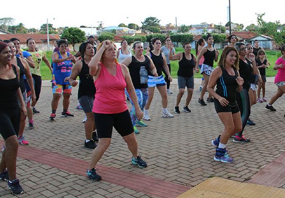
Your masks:
M 15 35 L 0 35 L 2 40 L 10 40 L 12 38 L 17 38 L 20 40 L 20 43 L 26 43 L 27 39 L 33 38 L 36 43 L 44 43 L 47 40 L 46 34 L 15 34 Z M 60 39 L 59 35 L 49 35 L 49 40 L 54 41 Z

